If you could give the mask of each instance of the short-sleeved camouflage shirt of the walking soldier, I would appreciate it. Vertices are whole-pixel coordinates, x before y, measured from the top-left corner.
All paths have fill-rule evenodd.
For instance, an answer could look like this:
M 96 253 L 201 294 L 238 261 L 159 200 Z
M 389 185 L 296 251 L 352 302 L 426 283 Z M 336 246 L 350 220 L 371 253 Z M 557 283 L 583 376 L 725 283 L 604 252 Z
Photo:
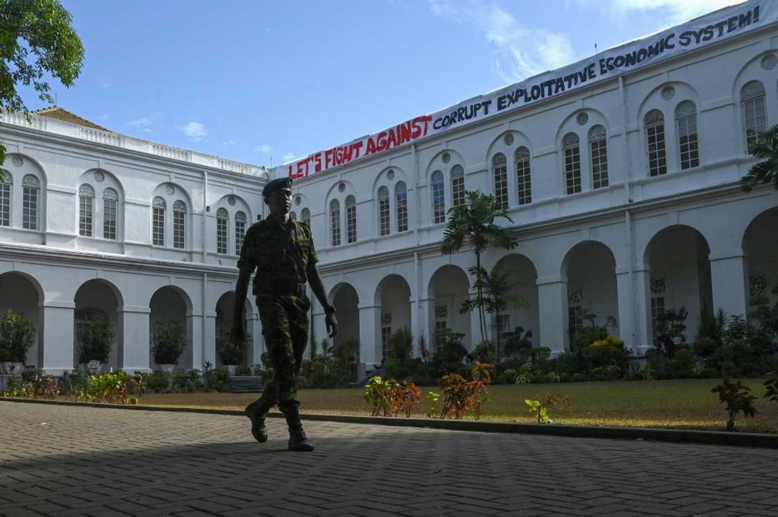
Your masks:
M 237 265 L 257 268 L 254 295 L 273 296 L 300 294 L 308 264 L 318 261 L 310 226 L 291 219 L 282 225 L 268 215 L 249 227 Z

